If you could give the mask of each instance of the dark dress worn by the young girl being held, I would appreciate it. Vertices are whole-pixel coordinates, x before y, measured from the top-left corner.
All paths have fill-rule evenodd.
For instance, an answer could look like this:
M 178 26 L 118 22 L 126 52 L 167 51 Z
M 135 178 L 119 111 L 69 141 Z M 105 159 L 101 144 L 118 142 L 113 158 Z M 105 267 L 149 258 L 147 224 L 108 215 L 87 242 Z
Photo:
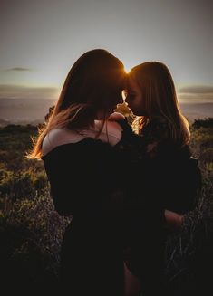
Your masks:
M 189 145 L 180 146 L 170 137 L 169 124 L 163 118 L 152 119 L 140 135 L 121 121 L 123 138 L 138 155 L 137 190 L 152 196 L 170 211 L 185 214 L 198 204 L 202 180 L 198 158 L 193 158 Z

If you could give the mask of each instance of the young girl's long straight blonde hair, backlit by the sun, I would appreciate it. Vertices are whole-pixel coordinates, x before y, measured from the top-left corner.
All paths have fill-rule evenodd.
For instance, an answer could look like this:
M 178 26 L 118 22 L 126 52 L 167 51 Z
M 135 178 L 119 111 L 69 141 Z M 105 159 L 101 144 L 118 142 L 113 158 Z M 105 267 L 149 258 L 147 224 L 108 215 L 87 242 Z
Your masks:
M 162 117 L 169 123 L 170 137 L 180 146 L 189 143 L 189 122 L 181 114 L 174 81 L 162 62 L 143 62 L 131 69 L 129 77 L 140 87 L 146 115 L 140 117 L 139 127 L 151 118 Z

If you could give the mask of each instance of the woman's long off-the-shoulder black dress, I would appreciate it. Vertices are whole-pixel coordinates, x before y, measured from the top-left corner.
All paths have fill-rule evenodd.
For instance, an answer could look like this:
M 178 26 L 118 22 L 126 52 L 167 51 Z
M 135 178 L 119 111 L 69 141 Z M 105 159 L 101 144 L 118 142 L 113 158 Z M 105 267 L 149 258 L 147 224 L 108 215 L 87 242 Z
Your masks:
M 151 273 L 158 286 L 163 209 L 136 197 L 135 156 L 122 137 L 115 147 L 84 138 L 42 158 L 56 211 L 73 215 L 61 257 L 61 289 L 71 295 L 123 295 L 123 250 L 130 245 L 137 249 L 144 281 Z

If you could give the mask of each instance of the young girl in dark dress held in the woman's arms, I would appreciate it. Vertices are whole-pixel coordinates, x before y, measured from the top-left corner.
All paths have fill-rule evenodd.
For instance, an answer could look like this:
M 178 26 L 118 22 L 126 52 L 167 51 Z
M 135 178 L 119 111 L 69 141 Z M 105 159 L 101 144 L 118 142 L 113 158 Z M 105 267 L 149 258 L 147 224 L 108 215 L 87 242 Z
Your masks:
M 165 230 L 162 232 L 159 225 L 159 235 L 155 241 L 150 235 L 153 244 L 150 243 L 150 248 L 148 243 L 147 250 L 140 237 L 131 243 L 127 263 L 131 272 L 140 278 L 145 295 L 146 292 L 151 294 L 151 291 L 154 295 L 158 292 L 158 284 L 154 284 L 160 279 L 158 272 L 163 274 L 168 224 L 172 226 L 171 229 L 177 228 L 183 221 L 182 215 L 198 204 L 201 174 L 198 159 L 191 156 L 189 124 L 179 110 L 169 69 L 161 62 L 144 62 L 135 66 L 129 73 L 126 95 L 132 112 L 140 116 L 133 122 L 133 126 L 138 126 L 139 135 L 135 135 L 125 121 L 121 121 L 123 138 L 128 139 L 132 151 L 138 153 L 138 161 L 135 162 L 138 174 L 135 174 L 134 183 L 130 186 L 135 190 L 134 195 L 143 199 L 143 203 L 146 198 L 150 200 L 150 209 L 151 204 L 167 209 Z M 154 259 L 150 264 L 148 258 L 151 252 Z M 154 261 L 159 266 L 156 272 L 153 272 Z M 161 281 L 166 289 L 163 275 Z

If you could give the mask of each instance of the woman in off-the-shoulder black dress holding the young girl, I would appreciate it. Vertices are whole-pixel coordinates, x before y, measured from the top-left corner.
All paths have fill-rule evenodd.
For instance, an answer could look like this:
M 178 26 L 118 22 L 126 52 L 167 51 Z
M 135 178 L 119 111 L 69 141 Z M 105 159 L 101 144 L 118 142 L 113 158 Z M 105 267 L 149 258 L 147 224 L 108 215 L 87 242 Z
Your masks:
M 122 182 L 121 168 L 113 169 L 121 127 L 107 119 L 122 101 L 124 78 L 111 53 L 82 54 L 29 156 L 44 160 L 56 211 L 73 216 L 60 273 L 71 295 L 123 295 L 121 211 L 113 201 Z

